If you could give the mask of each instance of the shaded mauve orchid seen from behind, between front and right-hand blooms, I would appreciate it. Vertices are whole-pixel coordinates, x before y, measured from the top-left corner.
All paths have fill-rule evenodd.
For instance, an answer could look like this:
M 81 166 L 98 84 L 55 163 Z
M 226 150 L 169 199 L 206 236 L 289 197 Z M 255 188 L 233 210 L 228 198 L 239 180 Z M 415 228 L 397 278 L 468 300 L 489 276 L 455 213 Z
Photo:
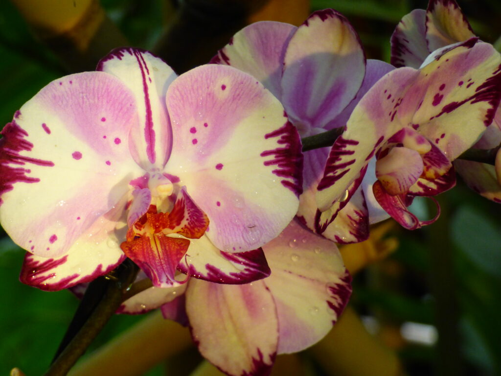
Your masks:
M 381 61 L 366 62 L 358 35 L 344 16 L 331 9 L 313 13 L 299 28 L 279 22 L 249 25 L 212 62 L 263 82 L 280 99 L 302 137 L 345 126 L 363 94 L 393 69 Z M 339 213 L 317 210 L 316 187 L 328 153 L 324 147 L 304 154 L 298 217 L 315 233 L 338 243 L 365 240 L 369 220 L 383 219 L 367 184 Z

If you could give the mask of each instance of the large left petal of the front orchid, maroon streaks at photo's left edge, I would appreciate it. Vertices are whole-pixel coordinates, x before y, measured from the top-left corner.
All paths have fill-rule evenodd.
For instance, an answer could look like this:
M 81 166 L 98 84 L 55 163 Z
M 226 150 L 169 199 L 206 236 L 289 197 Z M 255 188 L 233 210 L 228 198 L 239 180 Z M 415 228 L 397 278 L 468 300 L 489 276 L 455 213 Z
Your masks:
M 66 254 L 142 174 L 128 147 L 136 121 L 130 91 L 103 72 L 55 80 L 25 103 L 0 140 L 0 221 L 11 238 L 38 256 Z

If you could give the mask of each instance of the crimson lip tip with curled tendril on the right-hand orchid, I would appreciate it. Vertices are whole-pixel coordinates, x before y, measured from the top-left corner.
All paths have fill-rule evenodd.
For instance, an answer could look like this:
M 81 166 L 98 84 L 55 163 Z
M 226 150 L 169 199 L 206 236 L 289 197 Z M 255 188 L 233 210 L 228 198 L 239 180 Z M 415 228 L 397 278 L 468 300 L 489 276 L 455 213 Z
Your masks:
M 437 214 L 435 218 L 429 221 L 421 221 L 414 214 L 407 210 L 405 195 L 388 195 L 379 180 L 377 180 L 374 185 L 372 185 L 372 190 L 374 192 L 374 197 L 376 198 L 379 205 L 381 205 L 381 207 L 386 210 L 386 212 L 395 221 L 397 221 L 402 227 L 406 228 L 407 230 L 416 230 L 422 226 L 432 224 L 438 219 L 440 215 L 440 207 L 438 207 L 437 204 Z M 434 201 L 433 198 L 430 199 Z

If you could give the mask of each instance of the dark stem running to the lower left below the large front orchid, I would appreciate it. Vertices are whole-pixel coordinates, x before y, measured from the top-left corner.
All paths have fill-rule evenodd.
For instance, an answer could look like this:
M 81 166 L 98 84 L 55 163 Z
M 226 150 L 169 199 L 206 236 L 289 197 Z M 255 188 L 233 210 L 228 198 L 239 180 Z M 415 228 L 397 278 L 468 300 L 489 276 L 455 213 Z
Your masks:
M 68 373 L 110 317 L 122 304 L 139 268 L 130 259 L 106 276 L 92 281 L 45 376 Z

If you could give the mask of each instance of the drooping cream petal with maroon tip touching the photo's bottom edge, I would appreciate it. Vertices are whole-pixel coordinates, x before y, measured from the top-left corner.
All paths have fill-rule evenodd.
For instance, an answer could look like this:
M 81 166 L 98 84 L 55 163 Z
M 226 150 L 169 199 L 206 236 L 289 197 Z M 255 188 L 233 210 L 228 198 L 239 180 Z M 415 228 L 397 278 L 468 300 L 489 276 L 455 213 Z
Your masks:
M 278 345 L 278 318 L 263 281 L 222 285 L 190 279 L 186 312 L 203 357 L 231 376 L 266 375 Z

